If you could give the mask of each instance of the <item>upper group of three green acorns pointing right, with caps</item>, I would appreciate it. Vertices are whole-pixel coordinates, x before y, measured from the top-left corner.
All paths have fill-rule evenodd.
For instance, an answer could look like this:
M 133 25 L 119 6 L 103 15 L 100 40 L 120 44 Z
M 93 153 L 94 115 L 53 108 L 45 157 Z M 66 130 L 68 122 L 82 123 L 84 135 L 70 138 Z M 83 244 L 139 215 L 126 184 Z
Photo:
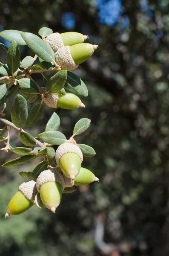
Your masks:
M 77 32 L 52 33 L 44 41 L 49 44 L 55 52 L 56 63 L 61 70 L 72 71 L 79 64 L 92 56 L 98 45 L 83 43 L 88 38 Z M 76 109 L 85 108 L 79 97 L 69 90 L 66 95 L 60 93 L 46 93 L 46 88 L 42 87 L 40 91 L 43 101 L 51 108 Z

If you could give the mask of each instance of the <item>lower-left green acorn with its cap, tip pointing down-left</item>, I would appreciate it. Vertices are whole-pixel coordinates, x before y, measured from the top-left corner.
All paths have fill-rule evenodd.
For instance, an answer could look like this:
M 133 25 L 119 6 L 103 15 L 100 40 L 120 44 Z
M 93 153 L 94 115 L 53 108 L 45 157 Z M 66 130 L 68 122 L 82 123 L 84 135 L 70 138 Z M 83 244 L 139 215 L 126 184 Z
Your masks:
M 18 215 L 31 208 L 37 194 L 36 182 L 32 179 L 26 180 L 19 186 L 19 191 L 11 198 L 5 218 L 10 215 Z

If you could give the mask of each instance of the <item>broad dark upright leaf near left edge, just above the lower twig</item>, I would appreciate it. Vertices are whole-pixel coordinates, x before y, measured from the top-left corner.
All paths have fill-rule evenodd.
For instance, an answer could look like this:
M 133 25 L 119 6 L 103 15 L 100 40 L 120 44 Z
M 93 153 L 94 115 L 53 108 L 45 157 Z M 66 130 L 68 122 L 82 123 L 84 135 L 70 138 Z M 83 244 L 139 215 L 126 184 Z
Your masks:
M 14 99 L 14 104 L 11 107 L 11 119 L 15 126 L 21 128 L 25 125 L 28 117 L 28 106 L 26 99 L 17 95 Z

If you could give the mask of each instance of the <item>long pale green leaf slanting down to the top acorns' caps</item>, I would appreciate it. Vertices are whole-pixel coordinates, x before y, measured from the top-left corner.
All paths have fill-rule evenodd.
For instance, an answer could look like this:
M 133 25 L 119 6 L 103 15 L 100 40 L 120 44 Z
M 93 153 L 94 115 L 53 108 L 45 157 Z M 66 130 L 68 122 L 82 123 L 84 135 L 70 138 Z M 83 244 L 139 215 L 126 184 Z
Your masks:
M 32 33 L 22 33 L 22 38 L 25 40 L 28 47 L 37 54 L 44 61 L 52 62 L 55 61 L 54 51 L 46 44 L 41 38 Z

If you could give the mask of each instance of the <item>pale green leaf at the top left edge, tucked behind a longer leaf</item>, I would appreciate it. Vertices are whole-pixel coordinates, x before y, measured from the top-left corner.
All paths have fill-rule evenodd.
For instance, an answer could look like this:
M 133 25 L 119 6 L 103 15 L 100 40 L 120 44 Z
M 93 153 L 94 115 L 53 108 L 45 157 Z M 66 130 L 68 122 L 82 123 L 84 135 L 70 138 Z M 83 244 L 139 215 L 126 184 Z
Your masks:
M 2 36 L 2 38 L 6 39 L 6 41 L 9 41 L 10 43 L 15 41 L 17 45 L 26 45 L 20 33 L 22 33 L 22 31 L 10 29 L 0 32 L 0 36 Z

